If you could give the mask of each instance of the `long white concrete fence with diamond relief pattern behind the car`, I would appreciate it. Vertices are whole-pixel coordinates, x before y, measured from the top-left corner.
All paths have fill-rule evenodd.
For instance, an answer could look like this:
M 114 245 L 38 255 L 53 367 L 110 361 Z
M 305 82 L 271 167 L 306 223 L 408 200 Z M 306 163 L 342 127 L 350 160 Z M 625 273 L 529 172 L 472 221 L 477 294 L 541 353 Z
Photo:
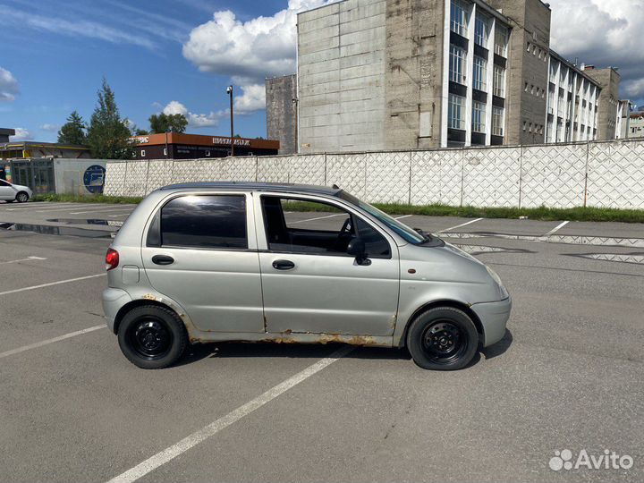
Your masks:
M 108 162 L 106 195 L 174 182 L 338 184 L 370 202 L 644 209 L 644 140 Z

